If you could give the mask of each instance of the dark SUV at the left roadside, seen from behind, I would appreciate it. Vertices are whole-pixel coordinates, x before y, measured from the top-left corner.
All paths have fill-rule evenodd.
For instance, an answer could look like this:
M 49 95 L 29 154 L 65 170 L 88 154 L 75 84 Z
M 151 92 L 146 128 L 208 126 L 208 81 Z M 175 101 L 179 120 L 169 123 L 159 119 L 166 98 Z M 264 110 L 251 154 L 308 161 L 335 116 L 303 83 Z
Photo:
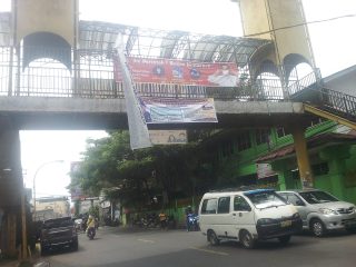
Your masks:
M 44 220 L 40 241 L 41 254 L 46 254 L 52 247 L 69 246 L 72 250 L 78 250 L 78 235 L 75 222 L 70 217 Z

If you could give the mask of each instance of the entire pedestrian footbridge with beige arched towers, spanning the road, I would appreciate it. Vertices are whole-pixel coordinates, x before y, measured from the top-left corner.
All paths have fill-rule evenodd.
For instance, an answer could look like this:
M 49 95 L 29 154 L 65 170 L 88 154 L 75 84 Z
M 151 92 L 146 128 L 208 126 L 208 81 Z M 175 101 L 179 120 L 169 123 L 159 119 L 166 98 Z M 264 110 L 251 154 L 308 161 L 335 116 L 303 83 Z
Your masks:
M 305 159 L 315 116 L 355 126 L 355 98 L 324 86 L 303 27 L 268 28 L 264 39 L 208 36 L 78 21 L 77 1 L 14 2 L 0 12 L 0 211 L 12 253 L 21 196 L 26 212 L 19 130 L 127 129 L 136 110 L 148 129 L 289 127 Z M 266 16 L 286 16 L 274 27 L 303 24 L 299 1 L 273 2 Z M 247 3 L 245 33 L 256 36 L 265 4 L 259 13 Z M 298 160 L 303 182 L 307 162 Z

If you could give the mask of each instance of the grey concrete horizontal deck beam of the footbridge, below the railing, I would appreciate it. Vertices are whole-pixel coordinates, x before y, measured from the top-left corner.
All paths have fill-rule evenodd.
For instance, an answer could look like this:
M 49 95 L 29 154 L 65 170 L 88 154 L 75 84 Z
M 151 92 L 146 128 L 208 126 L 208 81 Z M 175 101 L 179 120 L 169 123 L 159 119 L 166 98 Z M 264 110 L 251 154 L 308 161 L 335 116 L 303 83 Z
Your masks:
M 215 101 L 218 123 L 148 125 L 149 129 L 251 128 L 310 120 L 301 103 Z M 1 98 L 0 115 L 19 129 L 127 129 L 125 99 Z

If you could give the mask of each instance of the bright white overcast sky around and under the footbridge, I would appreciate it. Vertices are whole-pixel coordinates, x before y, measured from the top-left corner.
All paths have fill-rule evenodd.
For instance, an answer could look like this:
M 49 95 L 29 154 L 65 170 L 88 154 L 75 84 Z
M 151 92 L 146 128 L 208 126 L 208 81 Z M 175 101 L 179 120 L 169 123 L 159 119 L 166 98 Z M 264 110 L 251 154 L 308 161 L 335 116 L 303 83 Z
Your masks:
M 0 0 L 0 11 L 10 10 L 10 0 Z M 356 14 L 355 0 L 304 0 L 307 21 Z M 80 19 L 101 20 L 154 29 L 186 30 L 197 33 L 241 36 L 237 3 L 230 0 L 81 0 Z M 324 77 L 356 63 L 356 18 L 310 23 L 309 32 L 316 65 Z M 26 185 L 37 175 L 38 196 L 66 195 L 69 161 L 79 160 L 88 137 L 103 131 L 21 132 L 22 167 Z

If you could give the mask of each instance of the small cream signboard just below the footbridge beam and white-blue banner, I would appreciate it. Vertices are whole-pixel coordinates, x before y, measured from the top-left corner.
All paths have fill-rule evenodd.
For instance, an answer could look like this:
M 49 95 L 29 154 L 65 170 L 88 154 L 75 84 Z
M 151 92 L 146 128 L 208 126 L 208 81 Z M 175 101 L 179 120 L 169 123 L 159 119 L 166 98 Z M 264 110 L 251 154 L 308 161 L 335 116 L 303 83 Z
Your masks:
M 187 144 L 186 130 L 149 130 L 149 138 L 154 145 Z

